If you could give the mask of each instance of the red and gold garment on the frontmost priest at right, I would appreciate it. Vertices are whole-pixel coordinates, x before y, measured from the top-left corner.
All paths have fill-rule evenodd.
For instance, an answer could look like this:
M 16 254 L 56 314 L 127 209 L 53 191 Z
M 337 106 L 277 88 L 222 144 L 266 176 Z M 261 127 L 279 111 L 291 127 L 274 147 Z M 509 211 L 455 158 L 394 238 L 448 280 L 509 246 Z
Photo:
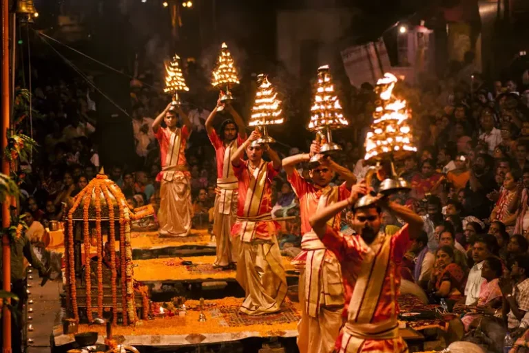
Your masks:
M 380 232 L 369 245 L 360 235 L 343 235 L 328 226 L 322 242 L 342 264 L 347 322 L 336 343 L 339 352 L 407 352 L 398 334 L 397 295 L 408 225 L 394 235 Z

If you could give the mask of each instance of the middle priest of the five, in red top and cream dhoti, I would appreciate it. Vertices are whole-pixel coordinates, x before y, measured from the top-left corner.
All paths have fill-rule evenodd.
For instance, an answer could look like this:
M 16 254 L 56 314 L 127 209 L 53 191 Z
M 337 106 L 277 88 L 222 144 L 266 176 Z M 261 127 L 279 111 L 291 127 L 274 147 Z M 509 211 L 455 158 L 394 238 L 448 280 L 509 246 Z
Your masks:
M 281 160 L 268 145 L 252 144 L 260 137 L 259 131 L 252 131 L 231 156 L 238 180 L 237 221 L 231 235 L 240 237 L 236 278 L 246 294 L 240 312 L 248 315 L 278 312 L 287 295 L 277 226 L 271 215 L 272 180 L 281 169 Z M 248 160 L 242 160 L 245 151 Z M 271 162 L 262 160 L 264 151 Z

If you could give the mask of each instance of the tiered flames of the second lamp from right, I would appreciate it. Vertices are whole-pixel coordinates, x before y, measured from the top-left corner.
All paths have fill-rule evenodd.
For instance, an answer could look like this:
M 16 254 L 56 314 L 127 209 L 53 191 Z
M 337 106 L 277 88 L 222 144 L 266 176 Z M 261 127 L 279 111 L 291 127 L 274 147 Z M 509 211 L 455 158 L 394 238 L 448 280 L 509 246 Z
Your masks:
M 320 130 L 324 127 L 337 129 L 349 125 L 342 114 L 342 105 L 335 95 L 329 65 L 318 68 L 318 83 L 311 107 L 310 130 Z

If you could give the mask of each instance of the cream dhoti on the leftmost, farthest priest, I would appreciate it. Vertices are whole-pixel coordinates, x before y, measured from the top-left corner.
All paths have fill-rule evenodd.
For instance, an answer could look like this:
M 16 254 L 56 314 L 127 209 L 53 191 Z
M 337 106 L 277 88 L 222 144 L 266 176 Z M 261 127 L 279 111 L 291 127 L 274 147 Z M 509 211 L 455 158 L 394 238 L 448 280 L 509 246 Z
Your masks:
M 185 237 L 191 231 L 192 204 L 189 177 L 180 168 L 162 171 L 160 187 L 160 235 Z

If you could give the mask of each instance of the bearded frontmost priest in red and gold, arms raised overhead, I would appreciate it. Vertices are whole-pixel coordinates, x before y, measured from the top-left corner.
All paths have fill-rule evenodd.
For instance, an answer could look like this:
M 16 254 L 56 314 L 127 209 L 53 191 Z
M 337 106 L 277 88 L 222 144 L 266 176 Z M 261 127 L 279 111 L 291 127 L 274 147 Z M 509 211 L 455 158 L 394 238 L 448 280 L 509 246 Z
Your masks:
M 353 211 L 355 235 L 343 235 L 327 224 L 342 209 L 355 204 L 360 194 L 366 193 L 365 184 L 356 184 L 347 200 L 311 217 L 313 231 L 338 256 L 344 285 L 349 287 L 345 290 L 346 303 L 349 303 L 344 310 L 347 321 L 337 347 L 344 353 L 407 352 L 408 347 L 398 332 L 399 268 L 408 243 L 422 232 L 423 220 L 410 209 L 383 199 L 380 204 Z M 381 231 L 381 206 L 407 223 L 394 235 Z

